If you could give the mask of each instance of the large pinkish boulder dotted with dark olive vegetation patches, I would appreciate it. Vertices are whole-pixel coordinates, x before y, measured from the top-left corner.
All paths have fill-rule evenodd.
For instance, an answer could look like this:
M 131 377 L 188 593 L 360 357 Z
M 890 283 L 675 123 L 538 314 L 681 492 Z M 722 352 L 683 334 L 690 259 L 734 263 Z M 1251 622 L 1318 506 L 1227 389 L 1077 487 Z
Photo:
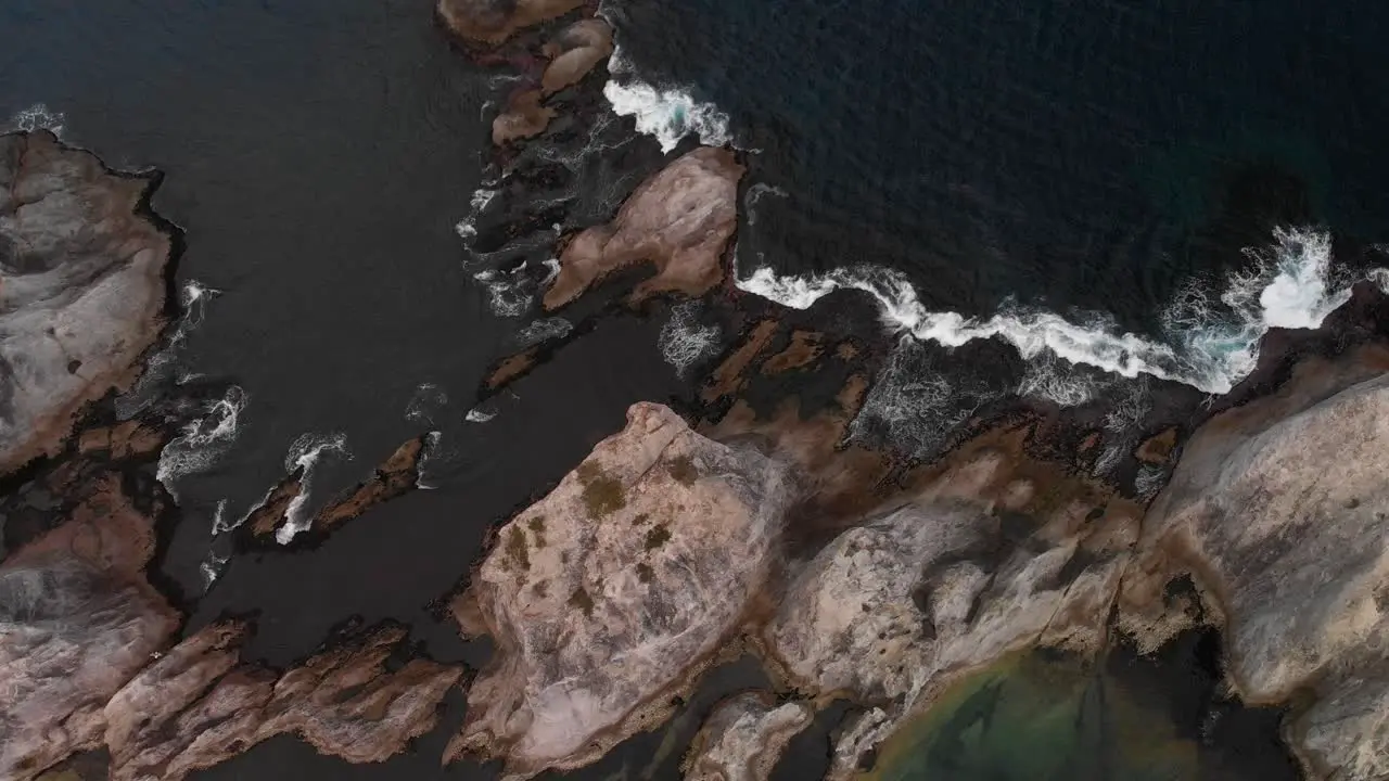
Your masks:
M 592 762 L 665 716 L 747 618 L 771 567 L 782 468 L 640 403 L 513 518 L 465 595 L 497 642 L 450 756 L 510 777 Z M 474 627 L 468 627 L 474 630 Z

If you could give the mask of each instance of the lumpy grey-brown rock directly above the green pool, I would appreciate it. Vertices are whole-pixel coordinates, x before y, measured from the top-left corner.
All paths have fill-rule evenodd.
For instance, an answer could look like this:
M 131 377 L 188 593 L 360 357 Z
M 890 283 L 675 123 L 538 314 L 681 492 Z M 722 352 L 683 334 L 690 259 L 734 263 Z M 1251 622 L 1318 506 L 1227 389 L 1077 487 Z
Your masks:
M 876 703 L 835 746 L 847 778 L 946 687 L 1033 645 L 1096 653 L 1138 513 L 1001 449 L 945 470 L 895 510 L 842 532 L 793 581 L 763 646 L 821 700 Z

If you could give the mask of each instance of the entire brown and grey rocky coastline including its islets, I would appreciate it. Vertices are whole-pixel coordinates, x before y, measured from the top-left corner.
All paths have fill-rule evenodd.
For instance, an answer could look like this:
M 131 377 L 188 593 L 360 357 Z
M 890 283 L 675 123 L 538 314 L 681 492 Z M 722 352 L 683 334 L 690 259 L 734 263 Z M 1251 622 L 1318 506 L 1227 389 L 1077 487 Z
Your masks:
M 494 118 L 499 154 L 543 143 L 557 96 L 601 72 L 613 31 L 589 13 L 439 1 L 469 50 L 539 51 L 536 83 Z M 922 457 L 858 427 L 889 338 L 729 285 L 746 164 L 682 149 L 611 220 L 560 239 L 546 314 L 700 302 L 732 336 L 688 397 L 633 404 L 460 564 L 447 611 L 460 635 L 490 638 L 490 661 L 435 661 L 385 624 L 272 670 L 243 659 L 253 621 L 185 625 L 188 605 L 153 567 L 174 499 L 150 471 L 172 431 L 107 403 L 169 321 L 179 238 L 149 211 L 157 179 L 47 133 L 0 136 L 0 472 L 29 504 L 49 502 L 7 504 L 0 778 L 104 752 L 113 780 L 179 780 L 282 734 L 385 762 L 464 689 L 440 762 L 499 762 L 518 781 L 661 730 L 710 668 L 750 653 L 768 687 L 699 714 L 683 777 L 764 781 L 817 713 L 849 702 L 824 775 L 847 780 L 981 670 L 1036 649 L 1082 663 L 1117 643 L 1156 653 L 1195 630 L 1220 632 L 1242 703 L 1286 709 L 1281 737 L 1307 778 L 1389 775 L 1382 290 L 1360 285 L 1321 329 L 1271 332 L 1221 399 L 1151 389 L 1170 403 L 1132 421 L 1115 471 L 1096 466 L 1099 413 L 1018 399 L 978 409 Z M 499 357 L 478 395 L 582 332 Z M 313 539 L 414 491 L 425 447 L 404 442 L 329 502 Z M 301 477 L 271 488 L 243 548 L 283 527 Z

